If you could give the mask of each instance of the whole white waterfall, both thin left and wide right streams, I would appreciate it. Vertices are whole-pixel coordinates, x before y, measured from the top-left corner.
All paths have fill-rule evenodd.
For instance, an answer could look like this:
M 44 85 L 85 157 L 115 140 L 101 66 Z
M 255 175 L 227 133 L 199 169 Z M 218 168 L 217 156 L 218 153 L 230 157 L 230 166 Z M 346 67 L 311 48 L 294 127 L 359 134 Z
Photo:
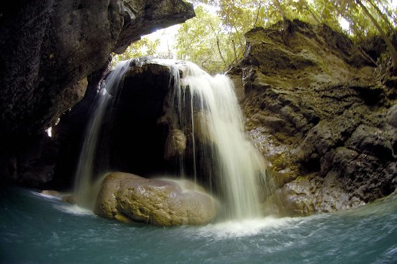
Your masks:
M 194 179 L 204 174 L 214 186 L 210 188 L 224 204 L 224 217 L 244 219 L 260 217 L 258 189 L 265 161 L 244 133 L 242 112 L 238 106 L 233 84 L 227 76 L 210 76 L 197 65 L 175 60 L 153 60 L 167 65 L 171 72 L 169 102 L 173 128 L 187 135 L 188 145 L 180 155 L 191 156 L 191 168 L 180 166 Z M 100 126 L 111 94 L 129 69 L 128 61 L 119 64 L 106 79 L 106 85 L 88 124 L 86 139 L 77 169 L 77 204 L 93 208 L 93 164 L 98 146 Z M 180 73 L 182 72 L 182 78 Z M 112 91 L 111 91 L 112 90 Z M 118 100 L 118 99 L 116 99 Z M 183 141 L 183 140 L 182 140 Z M 187 141 L 187 142 L 186 142 Z M 184 158 L 181 158 L 182 160 Z

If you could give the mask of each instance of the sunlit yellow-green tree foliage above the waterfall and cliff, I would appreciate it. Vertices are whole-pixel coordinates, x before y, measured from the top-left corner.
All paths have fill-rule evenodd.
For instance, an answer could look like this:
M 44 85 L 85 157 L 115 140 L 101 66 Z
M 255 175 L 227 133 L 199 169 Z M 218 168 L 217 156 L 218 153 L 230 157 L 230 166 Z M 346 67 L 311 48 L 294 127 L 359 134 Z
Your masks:
M 196 17 L 187 20 L 176 35 L 176 56 L 192 60 L 210 73 L 225 72 L 242 58 L 244 34 L 255 26 L 270 26 L 285 19 L 299 19 L 312 24 L 324 23 L 343 31 L 340 19 L 350 23 L 346 31 L 353 40 L 373 35 L 384 36 L 396 30 L 397 8 L 389 0 L 192 0 Z M 387 42 L 387 40 L 385 40 Z M 134 56 L 153 55 L 172 58 L 172 52 L 158 53 L 159 40 L 142 38 L 125 53 L 124 60 Z M 395 48 L 388 44 L 391 56 Z

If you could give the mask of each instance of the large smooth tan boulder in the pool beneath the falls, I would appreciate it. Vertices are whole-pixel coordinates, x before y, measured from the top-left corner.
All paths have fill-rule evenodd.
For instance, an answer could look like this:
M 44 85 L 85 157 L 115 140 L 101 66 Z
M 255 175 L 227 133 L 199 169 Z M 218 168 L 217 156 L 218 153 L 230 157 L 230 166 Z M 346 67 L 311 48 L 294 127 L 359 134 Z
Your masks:
M 106 176 L 95 213 L 157 226 L 208 224 L 216 216 L 212 197 L 190 181 L 145 179 L 123 172 Z

